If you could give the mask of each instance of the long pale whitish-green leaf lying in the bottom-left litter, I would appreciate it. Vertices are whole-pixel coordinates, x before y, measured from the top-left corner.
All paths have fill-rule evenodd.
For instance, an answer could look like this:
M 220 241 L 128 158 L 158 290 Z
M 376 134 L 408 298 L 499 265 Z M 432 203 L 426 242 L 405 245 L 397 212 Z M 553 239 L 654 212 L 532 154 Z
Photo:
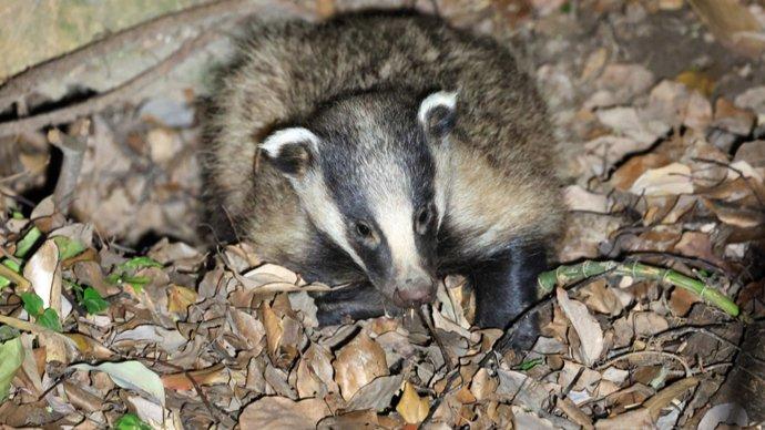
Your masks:
M 159 400 L 163 407 L 165 406 L 165 387 L 162 385 L 162 379 L 141 361 L 103 362 L 99 366 L 79 364 L 70 366 L 70 368 L 103 371 L 118 386 L 143 391 Z

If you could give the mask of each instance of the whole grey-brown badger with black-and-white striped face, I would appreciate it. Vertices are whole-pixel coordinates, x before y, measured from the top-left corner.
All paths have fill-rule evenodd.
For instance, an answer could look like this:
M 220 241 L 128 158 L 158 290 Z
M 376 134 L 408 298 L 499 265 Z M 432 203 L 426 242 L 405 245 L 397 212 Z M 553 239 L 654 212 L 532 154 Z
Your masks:
M 306 280 L 332 325 L 431 301 L 462 275 L 479 327 L 537 299 L 563 211 L 533 81 L 497 41 L 415 12 L 256 23 L 206 126 L 218 232 Z M 514 345 L 538 335 L 524 319 Z

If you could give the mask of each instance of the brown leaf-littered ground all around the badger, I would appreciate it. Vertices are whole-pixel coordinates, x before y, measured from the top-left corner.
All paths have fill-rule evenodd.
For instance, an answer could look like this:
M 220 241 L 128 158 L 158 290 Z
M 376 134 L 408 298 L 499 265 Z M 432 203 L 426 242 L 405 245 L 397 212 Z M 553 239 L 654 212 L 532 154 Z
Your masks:
M 220 3 L 228 14 L 248 4 Z M 283 12 L 262 19 L 361 6 L 265 3 Z M 507 43 L 550 106 L 570 213 L 533 349 L 492 348 L 502 332 L 470 326 L 459 277 L 446 279 L 426 321 L 412 311 L 319 328 L 306 291 L 326 286 L 246 244 L 216 243 L 198 203 L 200 106 L 206 72 L 230 51 L 225 38 L 195 34 L 211 22 L 230 34 L 242 22 L 169 21 L 166 34 L 113 45 L 108 61 L 85 58 L 23 91 L 9 90 L 19 76 L 0 86 L 0 423 L 714 429 L 765 420 L 762 6 L 415 6 Z M 188 40 L 198 44 L 167 73 L 62 114 Z M 71 168 L 78 145 L 86 149 Z M 67 181 L 76 181 L 71 198 Z

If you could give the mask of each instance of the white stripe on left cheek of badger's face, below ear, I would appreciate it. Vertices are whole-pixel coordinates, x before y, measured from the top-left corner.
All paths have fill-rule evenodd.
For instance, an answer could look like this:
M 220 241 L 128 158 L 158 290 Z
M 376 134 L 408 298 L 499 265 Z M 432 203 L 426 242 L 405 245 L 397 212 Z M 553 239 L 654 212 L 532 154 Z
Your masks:
M 348 243 L 343 216 L 335 205 L 335 201 L 329 196 L 322 174 L 312 172 L 303 181 L 293 181 L 293 186 L 316 227 L 329 236 L 359 267 L 366 270 L 361 257 Z

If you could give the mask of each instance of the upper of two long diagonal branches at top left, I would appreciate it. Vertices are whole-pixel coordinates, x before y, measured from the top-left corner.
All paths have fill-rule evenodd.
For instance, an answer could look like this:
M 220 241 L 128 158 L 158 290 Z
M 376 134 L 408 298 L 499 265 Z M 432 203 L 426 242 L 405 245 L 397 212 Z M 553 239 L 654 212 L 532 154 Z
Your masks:
M 75 66 L 110 52 L 119 51 L 129 43 L 140 43 L 176 28 L 195 23 L 211 17 L 254 11 L 257 3 L 247 0 L 220 0 L 163 14 L 150 21 L 119 31 L 104 39 L 93 41 L 74 51 L 33 65 L 12 76 L 0 86 L 0 110 L 28 93 L 39 83 L 65 74 Z

